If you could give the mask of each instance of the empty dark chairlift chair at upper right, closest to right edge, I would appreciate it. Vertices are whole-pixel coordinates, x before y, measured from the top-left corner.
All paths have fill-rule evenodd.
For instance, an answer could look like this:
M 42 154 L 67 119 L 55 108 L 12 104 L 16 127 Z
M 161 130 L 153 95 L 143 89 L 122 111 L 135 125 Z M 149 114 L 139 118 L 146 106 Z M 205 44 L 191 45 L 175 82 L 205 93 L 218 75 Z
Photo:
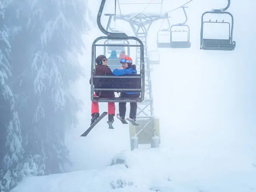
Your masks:
M 233 41 L 233 25 L 234 25 L 234 18 L 233 15 L 225 10 L 228 9 L 230 6 L 230 0 L 228 0 L 228 5 L 224 9 L 215 9 L 212 11 L 206 11 L 202 14 L 202 20 L 201 20 L 201 33 L 200 33 L 200 49 L 204 50 L 220 50 L 220 51 L 233 51 L 236 47 L 236 41 Z M 215 14 L 226 14 L 231 17 L 231 26 L 229 22 L 222 21 L 204 21 L 204 15 L 207 13 L 215 13 Z M 203 26 L 204 23 L 219 23 L 219 24 L 228 24 L 229 25 L 229 38 L 228 39 L 215 39 L 215 38 L 203 38 Z

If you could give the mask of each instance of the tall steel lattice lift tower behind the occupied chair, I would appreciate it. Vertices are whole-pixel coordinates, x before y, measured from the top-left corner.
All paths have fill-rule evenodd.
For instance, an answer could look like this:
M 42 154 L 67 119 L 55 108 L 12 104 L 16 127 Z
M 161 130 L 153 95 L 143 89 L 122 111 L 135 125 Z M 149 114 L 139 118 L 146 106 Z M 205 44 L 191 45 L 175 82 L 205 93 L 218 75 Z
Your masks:
M 127 1 L 125 3 L 120 3 L 120 1 L 117 0 L 117 6 L 119 8 L 120 15 L 118 15 L 118 13 L 115 14 L 115 19 L 124 20 L 131 25 L 135 36 L 141 39 L 144 45 L 145 97 L 143 102 L 138 103 L 137 109 L 136 119 L 137 123 L 140 124 L 140 129 L 138 129 L 138 126 L 134 127 L 130 124 L 131 150 L 133 150 L 133 148 L 138 148 L 138 144 L 151 143 L 151 147 L 159 146 L 159 118 L 156 118 L 154 116 L 153 94 L 150 75 L 151 70 L 148 59 L 147 35 L 148 30 L 154 21 L 168 18 L 168 13 L 161 14 L 163 0 L 158 0 L 158 3 L 150 3 L 151 5 L 154 4 L 154 6 L 159 6 L 160 13 L 143 13 L 143 11 L 142 13 L 122 14 L 122 5 L 133 4 L 143 3 L 128 3 Z M 149 3 L 144 4 L 147 6 Z M 134 5 L 134 7 L 136 7 L 136 5 Z M 139 61 L 139 57 L 140 49 L 136 48 L 136 62 Z M 136 64 L 136 66 L 138 65 Z

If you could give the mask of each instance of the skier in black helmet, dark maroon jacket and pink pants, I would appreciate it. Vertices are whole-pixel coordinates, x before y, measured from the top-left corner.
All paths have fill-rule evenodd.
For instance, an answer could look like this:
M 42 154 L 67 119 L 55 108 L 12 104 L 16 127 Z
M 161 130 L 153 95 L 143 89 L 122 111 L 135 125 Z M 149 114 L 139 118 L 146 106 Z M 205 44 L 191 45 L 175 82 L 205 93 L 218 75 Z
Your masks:
M 110 68 L 108 68 L 108 59 L 105 55 L 99 55 L 96 58 L 96 70 L 95 75 L 103 76 L 103 75 L 113 75 Z M 95 91 L 94 96 L 98 97 L 115 97 L 114 91 Z M 91 119 L 91 125 L 92 123 L 99 118 L 99 103 L 98 102 L 92 102 L 92 119 Z M 108 102 L 108 122 L 113 123 L 115 116 L 115 102 Z

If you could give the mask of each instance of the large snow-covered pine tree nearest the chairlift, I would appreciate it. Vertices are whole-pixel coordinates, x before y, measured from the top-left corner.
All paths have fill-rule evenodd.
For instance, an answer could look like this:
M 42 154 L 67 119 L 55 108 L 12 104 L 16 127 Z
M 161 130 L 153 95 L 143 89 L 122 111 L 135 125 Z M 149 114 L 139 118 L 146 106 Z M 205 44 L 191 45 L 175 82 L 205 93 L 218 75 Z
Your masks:
M 32 160 L 36 155 L 40 159 L 37 167 L 44 167 L 43 174 L 64 172 L 64 165 L 71 163 L 64 133 L 77 123 L 81 108 L 69 85 L 83 75 L 77 56 L 84 47 L 82 34 L 89 30 L 87 1 L 14 3 L 8 12 L 13 35 L 12 88 L 19 104 L 27 166 L 35 170 Z M 34 175 L 38 173 L 35 170 Z

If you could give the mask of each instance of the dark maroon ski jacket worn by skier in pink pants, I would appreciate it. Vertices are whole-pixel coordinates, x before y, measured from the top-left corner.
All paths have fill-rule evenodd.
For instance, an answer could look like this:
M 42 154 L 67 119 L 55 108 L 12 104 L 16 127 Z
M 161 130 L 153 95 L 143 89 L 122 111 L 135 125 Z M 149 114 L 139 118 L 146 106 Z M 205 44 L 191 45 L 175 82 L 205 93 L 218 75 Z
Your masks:
M 97 65 L 95 69 L 95 75 L 107 76 L 113 75 L 111 69 L 105 65 Z M 90 79 L 91 82 L 91 79 Z M 97 85 L 96 85 L 97 86 Z M 98 97 L 115 97 L 114 91 L 95 91 Z

